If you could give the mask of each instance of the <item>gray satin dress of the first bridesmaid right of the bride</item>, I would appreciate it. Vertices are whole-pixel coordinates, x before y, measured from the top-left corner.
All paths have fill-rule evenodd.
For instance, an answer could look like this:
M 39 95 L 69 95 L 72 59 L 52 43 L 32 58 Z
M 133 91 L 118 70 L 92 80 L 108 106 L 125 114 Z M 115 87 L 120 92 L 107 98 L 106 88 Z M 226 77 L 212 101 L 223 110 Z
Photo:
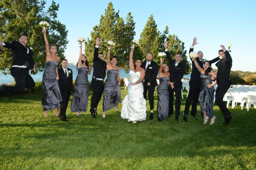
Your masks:
M 169 77 L 161 77 L 159 79 L 159 86 L 157 88 L 158 102 L 157 102 L 157 117 L 158 120 L 168 118 L 169 111 L 169 91 L 168 91 Z

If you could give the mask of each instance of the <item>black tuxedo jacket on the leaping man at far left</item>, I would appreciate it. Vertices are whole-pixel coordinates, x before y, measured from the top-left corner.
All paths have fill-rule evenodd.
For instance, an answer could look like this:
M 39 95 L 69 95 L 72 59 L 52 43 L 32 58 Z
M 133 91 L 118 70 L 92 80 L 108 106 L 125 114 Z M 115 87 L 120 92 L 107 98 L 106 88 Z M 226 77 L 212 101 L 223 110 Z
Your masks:
M 23 46 L 18 41 L 13 41 L 11 43 L 4 42 L 5 45 L 3 47 L 9 48 L 13 54 L 13 61 L 11 66 L 18 65 L 18 66 L 27 66 L 27 69 L 33 69 L 35 62 L 32 58 L 33 51 L 26 45 L 29 49 L 29 53 L 27 54 L 27 48 Z

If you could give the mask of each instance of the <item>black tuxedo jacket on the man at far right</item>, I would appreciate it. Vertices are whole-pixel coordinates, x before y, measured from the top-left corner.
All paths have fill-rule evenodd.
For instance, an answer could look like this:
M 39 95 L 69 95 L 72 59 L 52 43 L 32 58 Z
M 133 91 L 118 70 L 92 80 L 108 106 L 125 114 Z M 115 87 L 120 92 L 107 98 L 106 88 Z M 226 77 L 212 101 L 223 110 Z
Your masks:
M 230 70 L 232 67 L 232 58 L 229 52 L 225 51 L 225 58 L 218 61 L 215 65 L 218 67 L 217 84 L 231 85 Z

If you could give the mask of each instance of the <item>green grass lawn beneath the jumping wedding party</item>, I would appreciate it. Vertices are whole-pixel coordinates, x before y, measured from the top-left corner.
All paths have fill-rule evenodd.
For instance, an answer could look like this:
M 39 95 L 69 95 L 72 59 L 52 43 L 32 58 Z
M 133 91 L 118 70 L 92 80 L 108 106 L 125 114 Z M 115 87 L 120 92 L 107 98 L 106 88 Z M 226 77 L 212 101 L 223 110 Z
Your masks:
M 122 99 L 126 93 L 122 87 Z M 176 122 L 172 115 L 160 122 L 155 91 L 154 119 L 147 101 L 147 120 L 133 124 L 121 118 L 122 104 L 103 119 L 101 100 L 93 119 L 89 107 L 86 115 L 71 113 L 71 100 L 68 122 L 61 122 L 54 111 L 43 116 L 41 95 L 0 96 L 0 169 L 256 169 L 253 107 L 229 107 L 227 126 L 217 105 L 212 126 L 203 125 L 199 104 L 199 120 L 181 115 Z

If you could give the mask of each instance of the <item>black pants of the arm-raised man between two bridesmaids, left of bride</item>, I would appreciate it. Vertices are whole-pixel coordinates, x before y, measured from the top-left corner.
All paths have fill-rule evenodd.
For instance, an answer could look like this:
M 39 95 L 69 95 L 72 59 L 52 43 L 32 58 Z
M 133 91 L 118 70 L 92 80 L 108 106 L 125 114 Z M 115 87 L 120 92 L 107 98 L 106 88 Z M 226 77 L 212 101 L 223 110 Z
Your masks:
M 91 85 L 93 88 L 93 95 L 91 96 L 91 110 L 94 108 L 97 110 L 97 106 L 104 91 L 104 83 L 101 80 L 93 79 L 91 81 Z

